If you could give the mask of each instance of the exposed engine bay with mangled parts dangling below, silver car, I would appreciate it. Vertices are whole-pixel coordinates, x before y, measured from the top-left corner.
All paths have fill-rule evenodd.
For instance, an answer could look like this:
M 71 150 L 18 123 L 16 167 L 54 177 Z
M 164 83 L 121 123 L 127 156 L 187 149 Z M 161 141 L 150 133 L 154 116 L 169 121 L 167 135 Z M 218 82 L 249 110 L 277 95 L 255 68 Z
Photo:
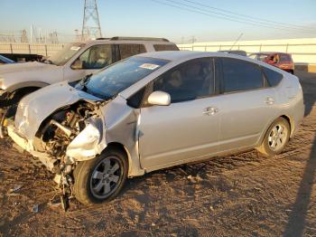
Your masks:
M 91 119 L 98 118 L 96 106 L 79 101 L 55 111 L 42 122 L 34 140 L 35 150 L 51 157 L 51 171 L 56 174 L 54 181 L 58 184 L 60 201 L 65 210 L 72 196 L 72 173 L 78 164 L 78 161 L 67 156 L 67 148 L 89 126 Z

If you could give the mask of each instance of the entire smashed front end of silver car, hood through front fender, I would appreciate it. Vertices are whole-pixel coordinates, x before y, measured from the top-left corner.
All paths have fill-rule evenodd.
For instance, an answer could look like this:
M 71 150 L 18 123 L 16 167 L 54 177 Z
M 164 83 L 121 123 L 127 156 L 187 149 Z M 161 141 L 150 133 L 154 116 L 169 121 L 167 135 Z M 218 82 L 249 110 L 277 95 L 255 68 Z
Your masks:
M 125 149 L 128 176 L 144 175 L 135 132 L 139 113 L 126 107 L 121 96 L 101 101 L 60 83 L 23 98 L 8 135 L 56 174 L 54 181 L 64 200 L 72 196 L 73 171 L 79 162 L 95 158 L 108 146 Z

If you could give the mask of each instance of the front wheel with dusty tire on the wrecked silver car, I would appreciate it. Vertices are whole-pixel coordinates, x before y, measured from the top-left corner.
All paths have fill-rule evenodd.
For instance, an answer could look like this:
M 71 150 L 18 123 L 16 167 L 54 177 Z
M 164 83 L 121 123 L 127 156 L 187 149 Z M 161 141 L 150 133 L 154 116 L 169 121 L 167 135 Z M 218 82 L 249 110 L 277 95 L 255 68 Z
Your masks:
M 81 204 L 86 205 L 111 201 L 125 185 L 127 172 L 127 157 L 116 149 L 79 162 L 73 173 L 74 195 Z

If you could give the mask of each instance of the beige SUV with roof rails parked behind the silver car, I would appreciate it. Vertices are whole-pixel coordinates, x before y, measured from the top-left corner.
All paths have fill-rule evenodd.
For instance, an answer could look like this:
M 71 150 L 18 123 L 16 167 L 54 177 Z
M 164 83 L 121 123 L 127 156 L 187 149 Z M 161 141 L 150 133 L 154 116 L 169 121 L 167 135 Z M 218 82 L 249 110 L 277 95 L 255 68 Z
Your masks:
M 108 65 L 135 54 L 174 51 L 178 47 L 163 38 L 113 37 L 87 43 L 70 43 L 43 62 L 27 62 L 0 68 L 0 137 L 5 119 L 13 117 L 17 103 L 27 94 L 60 81 L 78 81 Z

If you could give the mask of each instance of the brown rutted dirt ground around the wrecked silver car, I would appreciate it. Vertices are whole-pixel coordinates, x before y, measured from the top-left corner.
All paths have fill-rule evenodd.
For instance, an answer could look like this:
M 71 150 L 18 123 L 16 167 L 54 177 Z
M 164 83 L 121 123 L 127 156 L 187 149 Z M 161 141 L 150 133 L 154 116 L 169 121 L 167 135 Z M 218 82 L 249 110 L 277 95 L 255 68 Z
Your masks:
M 0 236 L 316 236 L 316 74 L 299 76 L 306 116 L 280 156 L 153 172 L 108 204 L 72 201 L 67 213 L 49 204 L 51 174 L 1 141 Z

